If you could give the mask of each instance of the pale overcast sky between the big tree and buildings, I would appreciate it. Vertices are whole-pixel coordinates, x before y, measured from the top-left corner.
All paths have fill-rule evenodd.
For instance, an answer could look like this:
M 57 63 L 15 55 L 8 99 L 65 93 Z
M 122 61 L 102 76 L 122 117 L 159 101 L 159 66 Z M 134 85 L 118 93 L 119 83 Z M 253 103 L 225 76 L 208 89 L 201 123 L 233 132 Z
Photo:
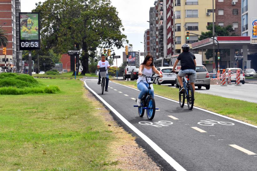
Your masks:
M 40 0 L 21 0 L 21 11 L 31 12 Z M 45 0 L 41 0 L 44 2 Z M 154 6 L 154 0 L 111 0 L 112 5 L 117 8 L 118 16 L 122 20 L 125 28 L 124 34 L 127 36 L 129 44 L 133 45 L 133 51 L 144 51 L 144 31 L 149 28 L 149 9 Z M 114 48 L 115 54 L 122 57 L 124 49 Z M 140 59 L 144 60 L 144 56 Z M 141 60 L 140 60 L 141 62 Z M 118 66 L 122 63 L 122 58 L 118 59 Z M 116 61 L 114 61 L 116 66 Z

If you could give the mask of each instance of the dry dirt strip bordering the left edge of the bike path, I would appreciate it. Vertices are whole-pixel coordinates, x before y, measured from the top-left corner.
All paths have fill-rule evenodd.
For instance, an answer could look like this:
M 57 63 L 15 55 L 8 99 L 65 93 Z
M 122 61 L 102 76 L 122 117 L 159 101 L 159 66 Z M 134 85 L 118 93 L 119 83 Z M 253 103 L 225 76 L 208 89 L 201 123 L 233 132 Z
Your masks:
M 119 127 L 110 112 L 88 90 L 84 92 L 85 98 L 91 100 L 95 106 L 98 106 L 99 113 L 97 115 L 103 116 L 106 125 L 109 126 L 109 129 L 116 137 L 116 140 L 108 148 L 111 149 L 109 160 L 118 161 L 118 164 L 108 166 L 107 169 L 161 170 L 144 152 L 144 149 L 139 147 L 135 137 L 128 134 L 122 127 Z

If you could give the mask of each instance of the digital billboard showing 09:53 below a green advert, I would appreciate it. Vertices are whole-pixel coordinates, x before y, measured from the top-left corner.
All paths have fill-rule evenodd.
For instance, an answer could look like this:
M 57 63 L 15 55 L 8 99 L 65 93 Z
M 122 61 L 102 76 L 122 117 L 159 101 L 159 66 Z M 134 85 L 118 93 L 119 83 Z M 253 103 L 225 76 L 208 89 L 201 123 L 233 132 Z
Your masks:
M 20 50 L 40 49 L 40 25 L 38 12 L 19 13 Z

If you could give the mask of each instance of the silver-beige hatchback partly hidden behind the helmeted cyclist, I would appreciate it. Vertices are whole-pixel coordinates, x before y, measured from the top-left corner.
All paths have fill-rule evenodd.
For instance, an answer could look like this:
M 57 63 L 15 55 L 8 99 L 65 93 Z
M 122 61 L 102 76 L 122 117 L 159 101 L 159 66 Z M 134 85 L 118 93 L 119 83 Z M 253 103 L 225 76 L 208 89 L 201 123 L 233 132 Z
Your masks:
M 196 79 L 194 85 L 201 89 L 202 86 L 206 88 L 206 90 L 210 89 L 210 76 L 209 72 L 206 70 L 205 66 L 203 65 L 196 65 Z M 179 80 L 176 78 L 176 87 L 179 88 Z

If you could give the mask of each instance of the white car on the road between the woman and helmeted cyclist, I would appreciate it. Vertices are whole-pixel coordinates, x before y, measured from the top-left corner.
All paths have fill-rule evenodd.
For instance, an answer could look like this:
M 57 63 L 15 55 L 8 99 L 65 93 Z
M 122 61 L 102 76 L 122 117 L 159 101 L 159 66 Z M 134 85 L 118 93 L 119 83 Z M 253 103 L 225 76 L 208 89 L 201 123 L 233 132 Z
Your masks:
M 158 85 L 161 85 L 161 84 L 171 84 L 172 86 L 175 85 L 177 74 L 172 72 L 172 67 L 170 66 L 159 67 L 157 70 L 160 71 L 163 77 L 156 79 L 155 83 L 157 83 Z M 158 74 L 154 74 L 154 76 L 158 76 Z

